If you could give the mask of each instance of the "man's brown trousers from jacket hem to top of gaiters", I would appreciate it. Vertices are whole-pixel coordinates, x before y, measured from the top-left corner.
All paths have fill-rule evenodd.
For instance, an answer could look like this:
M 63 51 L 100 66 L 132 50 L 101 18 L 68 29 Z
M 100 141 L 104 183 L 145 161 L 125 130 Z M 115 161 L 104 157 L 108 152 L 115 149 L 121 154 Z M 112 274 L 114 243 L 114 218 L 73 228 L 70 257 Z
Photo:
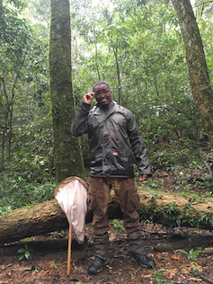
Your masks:
M 126 228 L 139 226 L 137 213 L 139 195 L 134 179 L 90 176 L 89 182 L 88 202 L 93 209 L 93 232 L 95 235 L 103 235 L 109 230 L 108 204 L 112 186 L 120 200 L 120 209 L 124 215 L 124 226 Z

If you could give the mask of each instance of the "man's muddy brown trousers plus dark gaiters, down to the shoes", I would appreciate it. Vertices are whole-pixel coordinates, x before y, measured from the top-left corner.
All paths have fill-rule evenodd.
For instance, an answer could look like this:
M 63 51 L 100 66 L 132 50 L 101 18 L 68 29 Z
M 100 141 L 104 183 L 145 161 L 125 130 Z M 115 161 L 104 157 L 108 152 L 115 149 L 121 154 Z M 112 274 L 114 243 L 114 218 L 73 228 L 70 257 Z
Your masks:
M 143 254 L 144 242 L 137 213 L 139 195 L 134 179 L 90 177 L 89 182 L 88 202 L 93 209 L 94 255 L 102 260 L 108 258 L 108 204 L 112 187 L 120 200 L 124 226 L 128 232 L 129 251 Z

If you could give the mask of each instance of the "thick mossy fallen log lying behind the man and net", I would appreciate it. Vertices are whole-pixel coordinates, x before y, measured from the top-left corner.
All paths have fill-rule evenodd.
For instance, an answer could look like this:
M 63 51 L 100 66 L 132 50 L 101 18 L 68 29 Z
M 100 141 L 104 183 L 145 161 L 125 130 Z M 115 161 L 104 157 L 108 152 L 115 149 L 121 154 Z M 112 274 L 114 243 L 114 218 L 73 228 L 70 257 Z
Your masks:
M 138 214 L 167 226 L 200 226 L 212 228 L 213 202 L 189 203 L 182 196 L 164 194 L 154 198 L 152 193 L 139 191 Z M 86 223 L 92 221 L 93 213 L 88 209 Z M 112 194 L 109 217 L 120 218 L 120 205 Z M 0 244 L 11 243 L 27 236 L 42 235 L 68 227 L 67 218 L 56 200 L 50 200 L 31 207 L 16 209 L 5 217 L 0 217 Z

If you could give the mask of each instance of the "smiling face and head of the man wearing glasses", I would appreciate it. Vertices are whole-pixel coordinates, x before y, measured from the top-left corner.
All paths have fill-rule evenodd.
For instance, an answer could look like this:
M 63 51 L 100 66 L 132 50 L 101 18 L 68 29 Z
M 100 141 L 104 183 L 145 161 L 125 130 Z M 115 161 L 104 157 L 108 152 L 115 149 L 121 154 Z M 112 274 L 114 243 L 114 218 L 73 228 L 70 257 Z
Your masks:
M 95 100 L 105 110 L 108 110 L 111 106 L 111 90 L 107 84 L 96 85 L 93 89 Z

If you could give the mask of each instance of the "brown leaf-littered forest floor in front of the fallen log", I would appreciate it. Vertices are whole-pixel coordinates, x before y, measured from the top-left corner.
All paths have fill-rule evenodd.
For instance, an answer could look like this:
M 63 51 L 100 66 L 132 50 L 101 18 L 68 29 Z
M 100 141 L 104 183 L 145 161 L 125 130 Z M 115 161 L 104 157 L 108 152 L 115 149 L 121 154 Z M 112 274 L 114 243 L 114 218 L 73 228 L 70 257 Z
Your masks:
M 122 225 L 122 221 L 120 221 Z M 116 225 L 116 226 L 115 226 Z M 212 283 L 213 254 L 195 253 L 183 243 L 181 249 L 166 252 L 156 251 L 159 243 L 167 244 L 170 230 L 151 222 L 142 224 L 145 250 L 155 259 L 155 270 L 146 270 L 131 262 L 128 256 L 127 235 L 118 232 L 117 222 L 111 222 L 109 256 L 110 261 L 101 273 L 90 276 L 87 268 L 93 262 L 92 226 L 86 226 L 87 245 L 82 250 L 72 249 L 71 273 L 67 277 L 67 242 L 65 247 L 58 249 L 57 245 L 50 250 L 34 250 L 28 259 L 19 261 L 19 253 L 7 255 L 2 250 L 0 258 L 1 284 L 115 284 L 115 283 Z M 175 229 L 174 229 L 175 230 Z M 176 228 L 178 234 L 184 228 Z M 200 230 L 200 235 L 203 232 Z M 194 234 L 192 232 L 191 234 Z M 49 239 L 66 238 L 67 232 L 54 232 L 51 235 L 31 237 L 31 240 L 48 242 Z M 28 243 L 30 248 L 32 243 Z M 13 244 L 15 248 L 15 244 Z M 5 249 L 5 248 L 4 248 Z M 16 248 L 17 252 L 18 249 Z M 190 256 L 190 257 L 189 257 Z

